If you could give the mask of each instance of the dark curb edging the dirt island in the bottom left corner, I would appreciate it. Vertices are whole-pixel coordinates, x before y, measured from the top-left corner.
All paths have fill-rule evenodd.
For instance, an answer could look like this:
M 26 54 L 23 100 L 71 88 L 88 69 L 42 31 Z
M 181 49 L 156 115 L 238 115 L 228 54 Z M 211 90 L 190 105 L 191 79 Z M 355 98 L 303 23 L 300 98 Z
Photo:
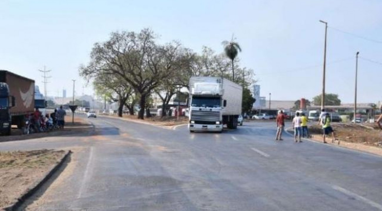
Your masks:
M 52 176 L 53 174 L 55 174 L 57 172 L 58 169 L 61 168 L 61 166 L 65 163 L 66 160 L 68 160 L 68 158 L 70 157 L 70 154 L 71 154 L 71 150 L 69 150 L 65 155 L 64 157 L 60 160 L 59 163 L 57 163 L 56 166 L 54 166 L 45 176 L 44 178 L 42 178 L 41 181 L 37 182 L 36 184 L 32 185 L 32 187 L 29 188 L 29 190 L 27 190 L 23 195 L 21 195 L 21 197 L 19 197 L 16 201 L 16 203 L 14 203 L 13 205 L 5 208 L 6 211 L 15 211 L 17 210 L 18 208 L 21 207 L 21 205 L 23 205 L 23 203 L 28 200 L 28 198 L 30 198 L 32 195 L 34 195 L 39 189 L 40 187 L 42 187 L 42 185 L 45 184 L 45 182 L 47 182 Z

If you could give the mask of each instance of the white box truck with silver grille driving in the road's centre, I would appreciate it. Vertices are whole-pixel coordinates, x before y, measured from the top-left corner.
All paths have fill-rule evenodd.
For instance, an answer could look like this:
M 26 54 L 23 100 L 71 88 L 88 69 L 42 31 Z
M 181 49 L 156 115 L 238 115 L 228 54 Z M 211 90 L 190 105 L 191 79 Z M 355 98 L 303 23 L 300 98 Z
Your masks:
M 243 88 L 220 77 L 191 77 L 189 81 L 190 132 L 236 129 L 241 115 Z

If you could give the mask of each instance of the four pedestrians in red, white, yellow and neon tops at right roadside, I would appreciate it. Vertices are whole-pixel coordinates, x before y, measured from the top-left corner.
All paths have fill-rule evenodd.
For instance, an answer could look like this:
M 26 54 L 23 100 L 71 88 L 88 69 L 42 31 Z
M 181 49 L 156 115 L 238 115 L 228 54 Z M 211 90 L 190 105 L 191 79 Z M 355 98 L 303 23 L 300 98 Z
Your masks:
M 322 109 L 322 112 L 320 114 L 320 118 L 318 121 L 318 124 L 322 126 L 323 130 L 323 139 L 324 143 L 327 143 L 325 138 L 327 135 L 332 134 L 333 139 L 332 142 L 335 140 L 338 140 L 335 136 L 334 130 L 332 126 L 330 125 L 330 115 L 329 113 L 325 112 L 324 109 Z M 282 131 L 285 127 L 285 115 L 282 110 L 278 112 L 277 118 L 276 118 L 276 124 L 277 124 L 277 133 L 276 133 L 276 140 L 283 140 L 281 138 Z M 309 138 L 309 130 L 308 130 L 308 118 L 306 117 L 305 113 L 296 112 L 295 118 L 293 118 L 292 126 L 295 130 L 295 142 L 302 142 L 301 137 L 307 137 Z

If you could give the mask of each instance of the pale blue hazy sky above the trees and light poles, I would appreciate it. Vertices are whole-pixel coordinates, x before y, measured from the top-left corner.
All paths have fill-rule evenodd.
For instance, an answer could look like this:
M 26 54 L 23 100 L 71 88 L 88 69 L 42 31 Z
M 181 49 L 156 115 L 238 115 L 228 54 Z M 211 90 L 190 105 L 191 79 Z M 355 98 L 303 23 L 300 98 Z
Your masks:
M 48 96 L 93 94 L 78 74 L 95 42 L 114 31 L 151 28 L 159 42 L 178 40 L 201 52 L 223 52 L 232 35 L 241 66 L 254 70 L 261 96 L 311 100 L 322 90 L 325 25 L 326 93 L 354 102 L 356 52 L 358 102 L 382 100 L 380 0 L 0 0 L 0 69 L 32 78 Z M 344 33 L 346 32 L 346 33 Z

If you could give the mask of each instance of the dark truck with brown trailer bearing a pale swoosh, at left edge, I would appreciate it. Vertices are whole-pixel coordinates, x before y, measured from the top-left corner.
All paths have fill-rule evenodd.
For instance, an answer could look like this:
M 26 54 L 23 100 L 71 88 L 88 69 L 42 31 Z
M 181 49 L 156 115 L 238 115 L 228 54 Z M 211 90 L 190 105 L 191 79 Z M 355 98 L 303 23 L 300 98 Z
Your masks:
M 11 125 L 24 126 L 34 111 L 34 80 L 0 70 L 0 133 L 9 135 Z

